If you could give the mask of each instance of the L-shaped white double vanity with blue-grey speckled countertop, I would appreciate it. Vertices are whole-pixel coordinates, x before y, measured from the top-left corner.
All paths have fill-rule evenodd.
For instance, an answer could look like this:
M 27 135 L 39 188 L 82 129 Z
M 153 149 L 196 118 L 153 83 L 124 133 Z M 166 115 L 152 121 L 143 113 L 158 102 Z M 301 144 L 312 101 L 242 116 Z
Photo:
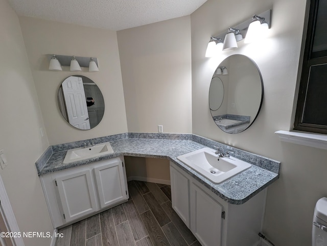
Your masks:
M 278 161 L 193 134 L 125 133 L 86 141 L 95 146 L 109 142 L 112 152 L 64 163 L 68 150 L 83 147 L 85 141 L 78 141 L 49 147 L 36 163 L 54 228 L 127 201 L 124 156 L 135 156 L 170 160 L 172 206 L 201 244 L 252 245 L 258 240 L 265 188 L 279 177 Z M 233 152 L 230 160 L 250 167 L 213 183 L 178 159 L 207 146 Z

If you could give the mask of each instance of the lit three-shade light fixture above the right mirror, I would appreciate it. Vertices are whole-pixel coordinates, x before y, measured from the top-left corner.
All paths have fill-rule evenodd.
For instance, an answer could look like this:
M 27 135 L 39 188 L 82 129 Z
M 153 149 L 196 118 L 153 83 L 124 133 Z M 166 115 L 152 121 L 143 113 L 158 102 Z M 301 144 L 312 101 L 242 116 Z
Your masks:
M 253 15 L 250 19 L 236 25 L 235 28 L 229 28 L 227 30 L 227 32 L 220 33 L 217 36 L 211 37 L 210 42 L 214 41 L 214 42 L 216 42 L 217 45 L 219 43 L 223 42 L 223 47 L 222 47 L 223 51 L 232 50 L 233 48 L 238 47 L 237 42 L 239 42 L 240 40 L 243 40 L 243 37 L 246 37 L 244 42 L 248 43 L 252 40 L 258 40 L 259 36 L 263 36 L 264 30 L 267 30 L 270 28 L 270 19 L 271 19 L 271 10 L 267 10 L 266 12 L 261 13 L 260 15 Z M 254 38 L 251 38 L 252 26 L 253 26 L 253 28 L 255 26 L 256 27 L 260 26 L 259 31 L 255 32 Z M 248 37 L 248 35 L 249 35 L 249 37 Z M 219 40 L 219 41 L 217 42 L 217 40 Z M 214 46 L 214 42 L 211 44 L 212 47 Z M 209 44 L 207 46 L 207 51 L 208 51 L 208 47 L 209 47 Z M 212 57 L 213 54 L 216 53 L 216 52 L 213 52 L 212 56 L 207 56 L 207 51 L 206 51 L 206 55 L 205 55 L 206 57 Z

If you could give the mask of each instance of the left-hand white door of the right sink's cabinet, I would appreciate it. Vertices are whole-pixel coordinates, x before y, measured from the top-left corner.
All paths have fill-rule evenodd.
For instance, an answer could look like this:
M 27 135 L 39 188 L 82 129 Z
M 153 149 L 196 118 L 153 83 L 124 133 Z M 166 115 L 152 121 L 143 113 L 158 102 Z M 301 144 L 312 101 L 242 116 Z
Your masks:
M 190 180 L 171 165 L 170 182 L 172 207 L 190 228 Z

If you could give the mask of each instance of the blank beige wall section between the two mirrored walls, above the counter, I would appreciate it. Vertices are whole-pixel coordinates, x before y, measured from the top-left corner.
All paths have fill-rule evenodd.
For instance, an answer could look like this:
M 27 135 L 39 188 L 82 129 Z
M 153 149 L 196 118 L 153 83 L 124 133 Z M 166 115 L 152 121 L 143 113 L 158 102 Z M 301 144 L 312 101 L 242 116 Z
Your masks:
M 190 16 L 117 33 L 130 132 L 192 132 Z

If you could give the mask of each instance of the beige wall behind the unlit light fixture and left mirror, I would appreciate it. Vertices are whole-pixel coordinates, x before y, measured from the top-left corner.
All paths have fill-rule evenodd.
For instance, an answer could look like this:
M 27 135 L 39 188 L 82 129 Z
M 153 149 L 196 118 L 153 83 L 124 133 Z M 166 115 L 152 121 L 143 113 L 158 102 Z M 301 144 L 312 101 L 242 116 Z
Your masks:
M 19 20 L 50 145 L 127 132 L 116 32 L 29 17 Z M 68 66 L 50 71 L 46 54 L 97 57 L 100 71 L 82 67 L 71 72 Z M 72 75 L 93 80 L 105 100 L 102 121 L 88 131 L 67 124 L 57 106 L 58 88 Z

